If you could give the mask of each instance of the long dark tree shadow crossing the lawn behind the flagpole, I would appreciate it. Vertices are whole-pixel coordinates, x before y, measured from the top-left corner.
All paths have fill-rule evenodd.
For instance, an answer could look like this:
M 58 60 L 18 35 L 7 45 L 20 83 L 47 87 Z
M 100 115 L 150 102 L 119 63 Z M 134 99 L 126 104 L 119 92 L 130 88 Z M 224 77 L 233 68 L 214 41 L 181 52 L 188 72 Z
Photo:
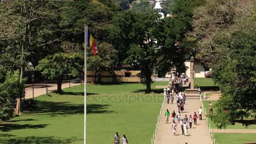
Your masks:
M 29 115 L 50 115 L 51 117 L 84 114 L 84 104 L 53 101 L 36 101 L 36 104 L 37 107 L 27 108 L 24 113 Z M 87 114 L 113 112 L 107 110 L 109 106 L 107 104 L 87 104 Z

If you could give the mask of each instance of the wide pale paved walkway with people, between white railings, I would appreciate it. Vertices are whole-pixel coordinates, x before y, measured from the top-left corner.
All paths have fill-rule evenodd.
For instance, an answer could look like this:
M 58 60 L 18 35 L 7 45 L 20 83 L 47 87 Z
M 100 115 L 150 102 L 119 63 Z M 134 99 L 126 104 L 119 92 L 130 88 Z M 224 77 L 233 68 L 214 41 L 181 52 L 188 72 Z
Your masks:
M 175 101 L 175 99 L 174 99 Z M 181 118 L 183 119 L 185 115 L 189 117 L 194 112 L 197 113 L 199 107 L 201 106 L 200 100 L 187 100 L 186 104 L 184 105 L 184 112 L 181 113 Z M 167 104 L 165 101 L 165 105 L 163 111 L 168 109 L 171 112 L 175 110 L 177 114 L 177 106 L 176 101 L 174 104 Z M 204 117 L 204 116 L 202 116 Z M 177 119 L 177 118 L 176 118 Z M 175 119 L 175 120 L 176 120 Z M 177 122 L 177 120 L 176 120 Z M 157 135 L 155 139 L 155 144 L 211 144 L 211 137 L 209 134 L 209 129 L 206 125 L 206 121 L 197 119 L 197 125 L 192 124 L 192 128 L 188 128 L 188 133 L 190 136 L 181 135 L 181 126 L 178 125 L 177 133 L 178 135 L 173 136 L 173 131 L 171 129 L 171 117 L 169 118 L 169 123 L 165 124 L 165 112 L 162 112 L 159 128 L 157 130 Z

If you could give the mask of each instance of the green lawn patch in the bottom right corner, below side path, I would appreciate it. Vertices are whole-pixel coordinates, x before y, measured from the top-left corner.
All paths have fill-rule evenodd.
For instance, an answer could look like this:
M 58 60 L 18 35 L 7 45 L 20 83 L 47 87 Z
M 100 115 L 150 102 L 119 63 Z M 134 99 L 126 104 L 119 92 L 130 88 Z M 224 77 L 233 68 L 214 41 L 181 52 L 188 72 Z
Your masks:
M 254 144 L 256 133 L 214 133 L 216 144 Z

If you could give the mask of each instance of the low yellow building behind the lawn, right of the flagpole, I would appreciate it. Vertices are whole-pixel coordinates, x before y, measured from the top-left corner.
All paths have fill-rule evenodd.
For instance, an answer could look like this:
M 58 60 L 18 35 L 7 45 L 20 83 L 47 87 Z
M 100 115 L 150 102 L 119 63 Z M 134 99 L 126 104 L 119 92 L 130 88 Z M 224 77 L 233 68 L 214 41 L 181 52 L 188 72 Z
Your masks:
M 99 71 L 96 73 L 97 83 L 140 83 L 141 71 L 139 70 L 115 70 Z M 95 71 L 87 71 L 87 82 L 93 82 Z

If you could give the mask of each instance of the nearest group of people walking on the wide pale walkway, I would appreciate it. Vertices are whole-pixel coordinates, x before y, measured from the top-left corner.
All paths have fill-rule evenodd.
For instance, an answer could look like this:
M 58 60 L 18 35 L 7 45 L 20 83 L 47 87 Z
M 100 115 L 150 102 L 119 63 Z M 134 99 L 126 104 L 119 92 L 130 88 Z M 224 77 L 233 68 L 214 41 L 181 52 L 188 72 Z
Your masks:
M 202 113 L 203 113 L 203 109 L 202 109 L 202 107 L 200 107 L 198 109 L 199 117 L 197 116 L 197 113 L 194 112 L 193 115 L 189 115 L 189 117 L 187 117 L 187 115 L 185 115 L 184 118 L 181 119 L 181 112 L 180 111 L 178 111 L 177 114 L 176 114 L 176 112 L 173 110 L 173 112 L 170 114 L 168 109 L 166 109 L 166 111 L 165 111 L 165 124 L 169 123 L 169 117 L 171 116 L 172 117 L 172 122 L 173 122 L 172 127 L 171 127 L 171 129 L 173 130 L 173 135 L 174 136 L 176 135 L 176 132 L 177 132 L 176 128 L 177 128 L 178 125 L 180 125 L 182 135 L 188 136 L 189 135 L 188 125 L 189 125 L 189 128 L 192 128 L 192 122 L 193 121 L 194 121 L 194 125 L 197 125 L 197 118 L 199 118 L 199 120 L 202 120 Z M 175 118 L 177 118 L 177 123 L 175 121 Z

